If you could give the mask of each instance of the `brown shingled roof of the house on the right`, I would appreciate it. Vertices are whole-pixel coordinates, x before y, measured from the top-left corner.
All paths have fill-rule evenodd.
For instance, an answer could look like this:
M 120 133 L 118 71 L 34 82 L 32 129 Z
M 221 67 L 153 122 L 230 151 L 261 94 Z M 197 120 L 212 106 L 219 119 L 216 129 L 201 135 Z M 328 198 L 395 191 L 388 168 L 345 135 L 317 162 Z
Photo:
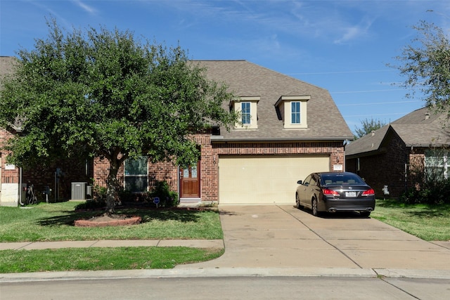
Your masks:
M 370 155 L 378 152 L 387 133 L 396 133 L 406 147 L 442 147 L 450 145 L 450 131 L 445 129 L 445 113 L 432 112 L 423 107 L 385 125 L 373 133 L 349 143 L 345 148 L 347 157 Z

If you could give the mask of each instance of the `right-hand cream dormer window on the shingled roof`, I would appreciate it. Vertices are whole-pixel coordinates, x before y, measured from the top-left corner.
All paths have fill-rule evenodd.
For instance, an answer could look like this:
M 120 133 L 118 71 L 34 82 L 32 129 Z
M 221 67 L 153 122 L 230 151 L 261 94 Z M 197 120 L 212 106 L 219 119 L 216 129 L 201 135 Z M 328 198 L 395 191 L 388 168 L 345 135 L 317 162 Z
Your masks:
M 311 96 L 281 96 L 275 106 L 280 112 L 285 129 L 308 128 L 307 101 Z

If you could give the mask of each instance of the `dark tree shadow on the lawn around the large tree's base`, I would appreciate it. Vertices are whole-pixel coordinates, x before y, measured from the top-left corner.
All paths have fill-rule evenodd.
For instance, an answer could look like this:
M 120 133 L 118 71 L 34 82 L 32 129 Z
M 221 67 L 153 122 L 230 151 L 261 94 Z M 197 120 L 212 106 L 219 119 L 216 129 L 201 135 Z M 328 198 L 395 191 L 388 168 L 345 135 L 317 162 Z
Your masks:
M 179 221 L 183 223 L 197 222 L 206 210 L 193 209 L 141 209 L 141 208 L 120 208 L 116 209 L 115 215 L 118 216 L 140 216 L 141 223 L 146 223 L 152 220 L 158 221 Z M 96 216 L 104 214 L 104 209 L 95 211 L 64 211 L 60 216 L 53 216 L 50 218 L 41 219 L 38 221 L 41 226 L 74 226 L 77 220 L 88 220 Z M 219 214 L 218 211 L 213 211 Z

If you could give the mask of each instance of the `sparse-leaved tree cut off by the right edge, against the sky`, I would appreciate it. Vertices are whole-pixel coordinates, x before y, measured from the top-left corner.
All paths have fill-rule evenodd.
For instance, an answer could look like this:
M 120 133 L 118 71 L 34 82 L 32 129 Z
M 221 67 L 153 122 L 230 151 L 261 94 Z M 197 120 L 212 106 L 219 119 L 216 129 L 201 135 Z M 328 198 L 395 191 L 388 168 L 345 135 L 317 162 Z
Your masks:
M 400 85 L 411 89 L 406 96 L 422 93 L 428 107 L 450 116 L 450 42 L 441 27 L 421 21 L 413 26 L 417 37 L 404 47 L 396 59 L 397 68 L 406 80 Z

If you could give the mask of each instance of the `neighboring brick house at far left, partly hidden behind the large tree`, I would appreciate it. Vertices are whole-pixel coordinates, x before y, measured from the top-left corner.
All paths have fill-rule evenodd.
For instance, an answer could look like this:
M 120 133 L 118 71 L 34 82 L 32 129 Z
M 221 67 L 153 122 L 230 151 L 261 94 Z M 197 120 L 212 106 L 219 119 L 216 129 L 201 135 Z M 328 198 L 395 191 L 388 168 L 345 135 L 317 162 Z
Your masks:
M 13 72 L 14 57 L 0 56 L 0 77 Z M 18 206 L 19 197 L 25 198 L 27 183 L 34 185 L 34 191 L 39 200 L 45 200 L 43 195 L 46 187 L 51 189 L 49 202 L 68 200 L 72 196 L 72 183 L 88 183 L 93 177 L 92 162 L 69 160 L 56 162 L 51 166 L 18 168 L 7 164 L 8 152 L 3 150 L 8 138 L 20 134 L 19 128 L 0 129 L 0 206 Z

